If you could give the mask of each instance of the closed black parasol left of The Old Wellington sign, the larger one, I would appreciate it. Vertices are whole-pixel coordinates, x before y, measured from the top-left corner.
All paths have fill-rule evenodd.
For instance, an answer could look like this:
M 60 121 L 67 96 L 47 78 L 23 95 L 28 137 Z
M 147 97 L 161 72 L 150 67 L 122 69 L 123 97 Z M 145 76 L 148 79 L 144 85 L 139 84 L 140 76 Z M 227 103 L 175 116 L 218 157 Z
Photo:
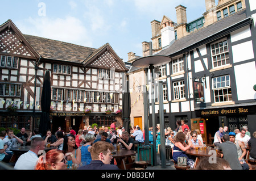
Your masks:
M 42 114 L 40 117 L 39 132 L 45 134 L 50 126 L 49 110 L 51 107 L 51 81 L 50 81 L 49 70 L 46 70 L 44 75 L 43 90 L 41 95 L 41 110 Z

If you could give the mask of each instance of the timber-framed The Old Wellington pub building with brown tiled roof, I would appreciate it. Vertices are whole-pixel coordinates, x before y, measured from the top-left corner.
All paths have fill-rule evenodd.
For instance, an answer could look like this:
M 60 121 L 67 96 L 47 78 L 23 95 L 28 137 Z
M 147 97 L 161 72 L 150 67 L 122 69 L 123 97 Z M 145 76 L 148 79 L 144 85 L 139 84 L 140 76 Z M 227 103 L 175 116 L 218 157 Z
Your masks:
M 95 49 L 23 35 L 11 20 L 0 26 L 0 127 L 39 127 L 44 73 L 51 74 L 52 131 L 110 126 L 122 107 L 124 62 L 109 43 Z M 35 84 L 36 79 L 36 84 Z M 16 111 L 7 107 L 15 103 Z M 91 113 L 85 113 L 91 108 Z M 105 114 L 110 109 L 112 113 Z M 44 133 L 43 133 L 44 134 Z

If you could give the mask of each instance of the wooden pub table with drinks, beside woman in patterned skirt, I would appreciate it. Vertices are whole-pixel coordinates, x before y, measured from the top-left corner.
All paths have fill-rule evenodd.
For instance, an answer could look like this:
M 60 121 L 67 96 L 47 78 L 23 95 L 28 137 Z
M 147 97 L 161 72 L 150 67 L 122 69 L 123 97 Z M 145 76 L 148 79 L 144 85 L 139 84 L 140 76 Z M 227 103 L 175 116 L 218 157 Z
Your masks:
M 213 155 L 213 153 L 211 153 L 211 151 L 216 152 L 215 149 L 207 148 L 206 150 L 203 150 L 203 148 L 201 148 L 201 149 L 199 148 L 198 151 L 196 151 L 196 149 L 189 149 L 189 150 L 185 151 L 185 153 L 187 155 L 192 155 L 192 156 L 196 157 L 196 162 L 195 162 L 195 166 L 194 166 L 194 167 L 196 167 L 197 163 L 199 163 L 199 161 L 200 161 L 200 158 L 211 157 Z M 221 155 L 216 153 L 216 157 L 221 157 Z

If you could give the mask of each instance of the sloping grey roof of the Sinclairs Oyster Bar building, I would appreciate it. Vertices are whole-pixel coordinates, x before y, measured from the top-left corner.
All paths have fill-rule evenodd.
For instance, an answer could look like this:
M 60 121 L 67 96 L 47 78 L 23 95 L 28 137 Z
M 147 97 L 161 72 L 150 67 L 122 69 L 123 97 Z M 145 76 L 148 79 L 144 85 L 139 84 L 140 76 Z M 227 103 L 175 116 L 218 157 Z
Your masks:
M 252 19 L 246 16 L 246 10 L 238 11 L 236 14 L 175 40 L 173 44 L 156 55 L 176 56 L 180 53 L 185 53 L 195 47 L 209 43 L 220 36 L 225 36 L 246 24 L 251 24 L 251 22 Z

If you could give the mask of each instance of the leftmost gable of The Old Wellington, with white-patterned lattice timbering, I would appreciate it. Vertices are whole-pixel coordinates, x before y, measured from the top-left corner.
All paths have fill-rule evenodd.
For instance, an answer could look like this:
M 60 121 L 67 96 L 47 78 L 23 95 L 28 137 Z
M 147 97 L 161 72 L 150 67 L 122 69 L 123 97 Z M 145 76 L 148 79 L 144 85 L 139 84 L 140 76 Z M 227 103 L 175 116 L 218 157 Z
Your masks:
M 1 46 L 0 51 L 14 55 L 27 56 L 31 59 L 39 59 L 40 54 L 23 36 L 12 20 L 7 20 L 0 26 Z

